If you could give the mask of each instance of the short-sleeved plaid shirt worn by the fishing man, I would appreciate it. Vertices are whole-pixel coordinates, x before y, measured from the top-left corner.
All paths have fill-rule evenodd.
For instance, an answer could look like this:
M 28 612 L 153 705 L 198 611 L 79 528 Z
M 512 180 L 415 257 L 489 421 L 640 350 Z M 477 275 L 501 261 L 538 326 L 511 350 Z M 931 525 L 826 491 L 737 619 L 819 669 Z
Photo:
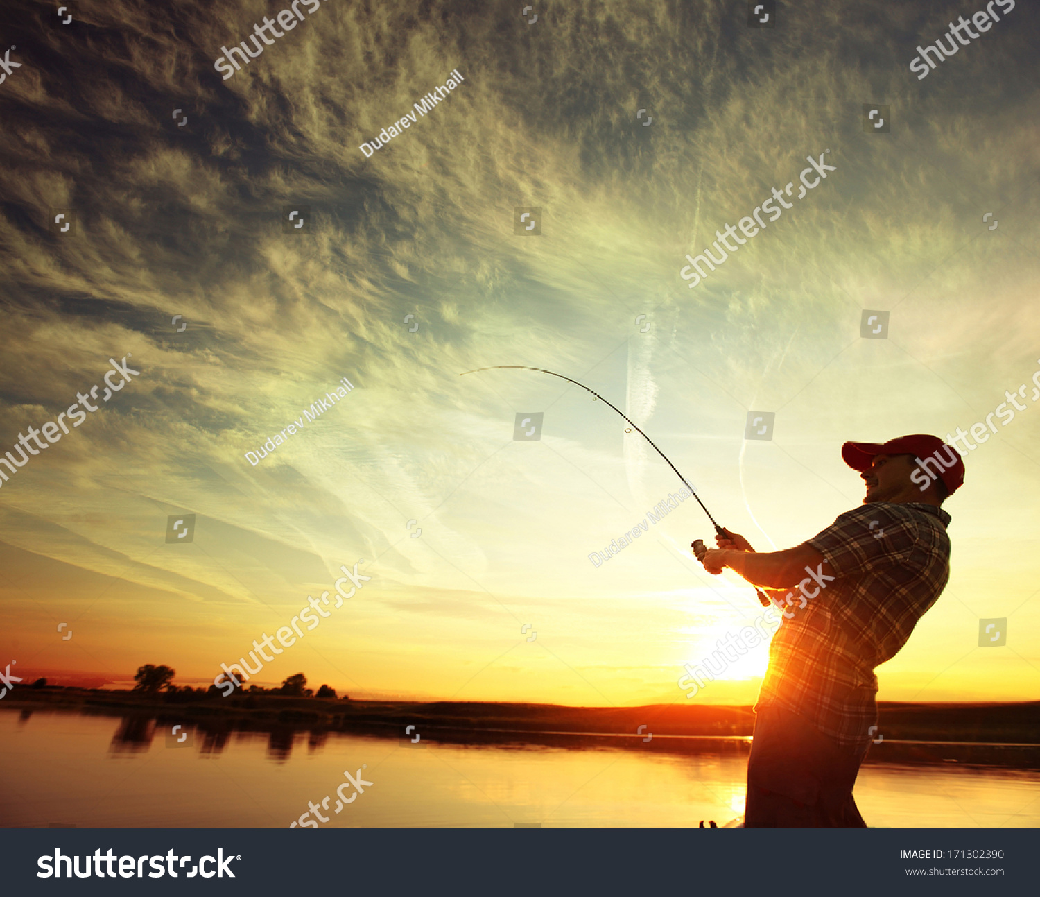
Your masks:
M 878 502 L 847 511 L 809 539 L 827 559 L 824 574 L 835 579 L 823 588 L 810 580 L 806 590 L 818 594 L 804 609 L 801 599 L 790 605 L 795 616 L 770 646 L 755 710 L 775 702 L 839 744 L 872 741 L 874 668 L 906 644 L 945 588 L 948 523 L 950 514 L 933 505 Z

